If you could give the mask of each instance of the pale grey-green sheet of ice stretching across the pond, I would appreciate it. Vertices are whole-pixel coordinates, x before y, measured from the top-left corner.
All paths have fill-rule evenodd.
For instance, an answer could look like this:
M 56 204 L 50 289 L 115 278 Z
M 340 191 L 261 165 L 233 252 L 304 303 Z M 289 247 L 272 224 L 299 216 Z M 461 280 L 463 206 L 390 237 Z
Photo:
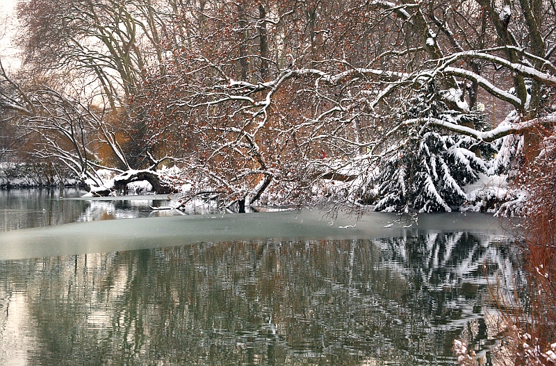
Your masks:
M 182 246 L 229 240 L 356 240 L 466 231 L 503 235 L 500 219 L 481 213 L 419 215 L 418 225 L 391 213 L 330 217 L 326 211 L 184 215 L 81 222 L 0 233 L 0 260 Z M 323 219 L 327 218 L 327 219 Z M 340 228 L 339 226 L 344 226 Z M 355 226 L 346 230 L 347 226 Z M 385 227 L 387 226 L 387 227 Z

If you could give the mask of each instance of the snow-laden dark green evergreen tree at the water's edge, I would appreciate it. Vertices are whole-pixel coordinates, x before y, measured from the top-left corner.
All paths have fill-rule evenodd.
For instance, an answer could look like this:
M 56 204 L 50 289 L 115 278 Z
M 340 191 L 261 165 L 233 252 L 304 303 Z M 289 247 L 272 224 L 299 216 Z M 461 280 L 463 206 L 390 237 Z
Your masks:
M 433 88 L 409 101 L 407 120 L 434 118 L 456 124 L 484 125 L 476 109 L 468 113 L 450 110 L 445 102 L 434 99 Z M 483 128 L 488 126 L 484 125 Z M 425 124 L 410 133 L 402 149 L 385 160 L 377 178 L 379 201 L 376 210 L 409 212 L 450 212 L 466 200 L 464 185 L 486 173 L 480 158 L 488 147 L 455 133 L 446 134 Z

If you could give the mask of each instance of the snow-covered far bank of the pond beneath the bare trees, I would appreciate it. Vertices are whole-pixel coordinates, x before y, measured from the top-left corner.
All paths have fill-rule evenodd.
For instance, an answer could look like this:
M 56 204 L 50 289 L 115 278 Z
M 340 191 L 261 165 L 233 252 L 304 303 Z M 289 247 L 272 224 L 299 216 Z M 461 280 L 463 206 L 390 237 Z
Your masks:
M 135 171 L 133 171 L 135 172 Z M 193 192 L 194 184 L 189 180 L 179 178 L 182 174 L 177 168 L 164 168 L 157 174 L 162 181 L 165 181 L 172 192 L 178 192 L 183 197 L 182 201 L 189 201 L 195 197 L 195 192 L 213 192 L 211 187 L 197 188 Z M 130 173 L 131 174 L 131 173 Z M 131 181 L 126 183 L 122 189 L 114 189 L 114 181 L 125 174 L 117 174 L 106 169 L 97 171 L 98 178 L 104 182 L 97 190 L 107 191 L 110 196 L 120 194 L 152 194 L 153 185 L 149 181 Z M 332 179 L 322 179 L 313 182 L 311 197 L 306 197 L 307 201 L 302 206 L 318 207 L 338 204 L 340 206 L 351 207 L 352 210 L 375 210 L 373 202 L 375 199 L 368 199 L 366 202 L 357 197 L 359 190 L 352 187 L 352 181 L 334 181 Z M 52 174 L 38 167 L 30 165 L 0 165 L 0 189 L 26 189 L 26 188 L 83 188 L 83 181 L 72 178 L 69 175 Z M 373 191 L 373 190 L 370 190 Z M 376 194 L 377 192 L 375 192 Z M 370 192 L 371 196 L 373 195 Z M 460 206 L 448 208 L 452 212 L 480 212 L 491 213 L 493 215 L 514 216 L 519 215 L 519 206 L 523 205 L 526 199 L 525 192 L 518 192 L 515 188 L 510 189 L 507 175 L 486 175 L 479 174 L 476 181 L 462 187 L 462 195 L 466 199 Z M 89 197 L 97 196 L 97 192 L 92 190 L 87 194 Z M 101 194 L 107 195 L 107 194 Z M 201 194 L 203 198 L 203 194 Z M 217 194 L 218 196 L 218 194 Z M 247 194 L 250 197 L 250 194 Z M 210 199 L 210 197 L 208 197 Z M 218 199 L 218 197 L 216 197 Z M 239 201 L 238 201 L 239 203 Z M 253 202 L 255 206 L 288 206 L 293 202 L 288 201 L 287 197 L 277 192 L 263 192 L 259 200 Z M 297 204 L 297 203 L 293 203 Z M 250 202 L 245 199 L 244 205 L 250 206 Z M 392 208 L 393 210 L 393 208 Z M 385 210 L 392 212 L 391 210 Z M 411 208 L 406 208 L 406 213 L 414 212 Z

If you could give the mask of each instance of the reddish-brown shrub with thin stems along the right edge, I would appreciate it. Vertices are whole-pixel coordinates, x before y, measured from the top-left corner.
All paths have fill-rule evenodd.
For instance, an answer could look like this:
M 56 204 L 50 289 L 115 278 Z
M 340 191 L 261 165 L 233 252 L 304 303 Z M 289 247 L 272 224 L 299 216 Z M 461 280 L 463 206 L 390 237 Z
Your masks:
M 528 192 L 521 218 L 528 290 L 512 306 L 498 299 L 506 328 L 498 358 L 505 365 L 550 365 L 556 340 L 556 131 L 539 129 L 530 141 L 538 143 L 528 144 L 513 183 Z

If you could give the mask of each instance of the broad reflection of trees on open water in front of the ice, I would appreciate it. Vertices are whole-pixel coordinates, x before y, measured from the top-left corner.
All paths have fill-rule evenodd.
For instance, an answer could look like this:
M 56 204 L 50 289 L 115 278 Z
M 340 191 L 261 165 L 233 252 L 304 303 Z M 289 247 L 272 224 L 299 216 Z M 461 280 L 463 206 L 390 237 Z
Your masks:
M 452 340 L 482 321 L 480 266 L 508 258 L 439 234 L 195 244 L 6 271 L 26 274 L 31 363 L 451 365 Z

